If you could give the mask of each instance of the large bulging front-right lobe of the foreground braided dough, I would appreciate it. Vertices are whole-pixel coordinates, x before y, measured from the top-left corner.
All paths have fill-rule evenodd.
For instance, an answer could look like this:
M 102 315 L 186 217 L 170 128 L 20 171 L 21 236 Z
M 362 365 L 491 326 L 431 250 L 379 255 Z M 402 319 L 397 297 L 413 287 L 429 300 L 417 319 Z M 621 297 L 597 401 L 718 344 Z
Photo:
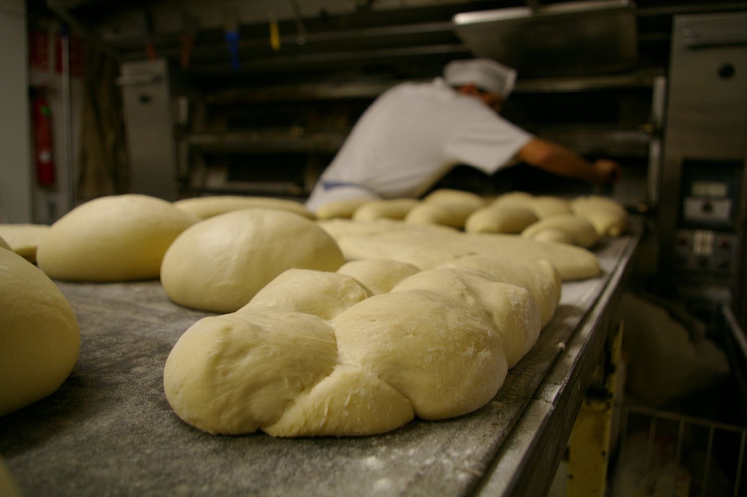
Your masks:
M 384 380 L 423 419 L 470 413 L 506 378 L 500 337 L 453 297 L 421 289 L 374 295 L 332 322 L 341 362 Z

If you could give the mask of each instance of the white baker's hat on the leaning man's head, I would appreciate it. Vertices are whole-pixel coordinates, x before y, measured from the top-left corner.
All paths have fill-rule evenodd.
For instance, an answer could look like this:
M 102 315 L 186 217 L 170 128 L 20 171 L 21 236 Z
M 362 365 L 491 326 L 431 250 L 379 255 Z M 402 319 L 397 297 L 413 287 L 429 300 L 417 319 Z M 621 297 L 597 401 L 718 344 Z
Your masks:
M 474 84 L 481 90 L 498 93 L 505 100 L 513 90 L 516 70 L 490 59 L 468 59 L 446 64 L 444 79 L 451 86 Z

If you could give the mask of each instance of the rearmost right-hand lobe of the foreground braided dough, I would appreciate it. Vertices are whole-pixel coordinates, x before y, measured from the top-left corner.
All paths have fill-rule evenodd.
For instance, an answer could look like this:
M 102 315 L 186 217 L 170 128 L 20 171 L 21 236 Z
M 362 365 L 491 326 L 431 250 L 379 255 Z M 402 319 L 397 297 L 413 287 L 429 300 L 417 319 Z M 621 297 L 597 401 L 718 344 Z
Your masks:
M 443 267 L 472 268 L 489 274 L 496 281 L 527 288 L 539 306 L 543 327 L 553 317 L 560 302 L 560 275 L 546 260 L 517 264 L 500 256 L 466 256 L 447 262 Z

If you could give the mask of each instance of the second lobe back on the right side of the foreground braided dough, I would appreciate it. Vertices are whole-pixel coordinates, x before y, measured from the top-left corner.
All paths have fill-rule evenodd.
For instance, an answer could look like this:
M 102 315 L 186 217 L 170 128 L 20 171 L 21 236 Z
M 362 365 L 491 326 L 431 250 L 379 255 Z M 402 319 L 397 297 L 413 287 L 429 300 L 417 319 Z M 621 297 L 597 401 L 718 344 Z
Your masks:
M 539 307 L 526 288 L 500 283 L 471 268 L 421 271 L 392 288 L 392 293 L 422 288 L 462 300 L 500 337 L 508 367 L 512 368 L 537 342 L 541 328 Z

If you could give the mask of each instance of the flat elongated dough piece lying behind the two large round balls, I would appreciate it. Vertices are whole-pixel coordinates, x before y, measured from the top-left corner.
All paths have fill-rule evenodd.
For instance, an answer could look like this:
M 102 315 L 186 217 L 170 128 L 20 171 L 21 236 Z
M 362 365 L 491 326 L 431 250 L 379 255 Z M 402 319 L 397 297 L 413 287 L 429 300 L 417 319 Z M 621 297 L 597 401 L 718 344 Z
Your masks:
M 232 195 L 217 197 L 195 197 L 185 200 L 177 200 L 174 206 L 189 212 L 200 219 L 208 219 L 226 212 L 241 209 L 272 209 L 293 212 L 309 219 L 314 219 L 314 214 L 307 211 L 300 203 L 293 200 L 273 199 L 267 197 L 237 197 Z

